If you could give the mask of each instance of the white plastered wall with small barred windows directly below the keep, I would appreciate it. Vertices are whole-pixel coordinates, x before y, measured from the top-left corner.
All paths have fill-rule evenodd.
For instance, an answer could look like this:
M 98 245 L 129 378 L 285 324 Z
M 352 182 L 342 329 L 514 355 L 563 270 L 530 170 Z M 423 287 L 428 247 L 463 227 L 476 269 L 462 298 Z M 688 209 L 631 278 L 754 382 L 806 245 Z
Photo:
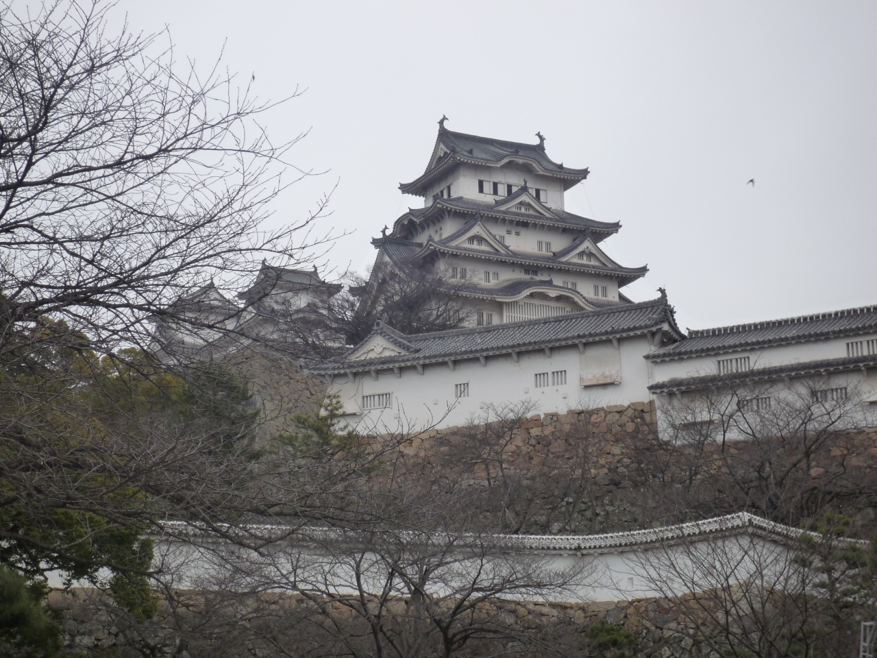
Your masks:
M 533 413 L 590 409 L 651 399 L 645 335 L 512 354 L 333 375 L 329 393 L 345 421 L 365 433 L 460 426 L 486 405 L 531 403 Z M 460 397 L 457 397 L 458 394 Z M 382 397 L 381 396 L 385 396 Z M 389 396 L 386 397 L 386 396 Z M 367 409 L 374 404 L 386 404 Z

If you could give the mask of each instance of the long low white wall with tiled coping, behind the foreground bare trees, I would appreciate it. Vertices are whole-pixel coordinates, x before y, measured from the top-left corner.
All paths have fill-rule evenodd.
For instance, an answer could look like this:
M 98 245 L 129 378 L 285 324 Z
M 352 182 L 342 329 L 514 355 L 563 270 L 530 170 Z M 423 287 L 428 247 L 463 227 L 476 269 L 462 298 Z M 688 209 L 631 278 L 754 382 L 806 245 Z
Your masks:
M 382 558 L 410 540 L 406 561 L 415 569 L 418 559 L 446 565 L 446 572 L 434 571 L 425 583 L 433 594 L 466 590 L 479 578 L 502 578 L 508 572 L 517 581 L 529 574 L 547 586 L 511 590 L 505 598 L 596 602 L 680 596 L 745 582 L 794 590 L 803 582 L 798 557 L 806 546 L 801 531 L 748 514 L 583 536 L 364 533 L 359 540 L 355 532 L 331 529 L 305 528 L 289 536 L 278 530 L 281 539 L 272 540 L 272 526 L 253 526 L 246 539 L 265 540 L 256 552 L 198 533 L 183 537 L 175 529 L 154 537 L 155 567 L 172 575 L 173 586 L 182 589 L 315 587 L 350 593 L 361 583 L 364 590 L 378 592 L 388 583 L 392 562 Z M 840 541 L 867 547 L 867 542 Z

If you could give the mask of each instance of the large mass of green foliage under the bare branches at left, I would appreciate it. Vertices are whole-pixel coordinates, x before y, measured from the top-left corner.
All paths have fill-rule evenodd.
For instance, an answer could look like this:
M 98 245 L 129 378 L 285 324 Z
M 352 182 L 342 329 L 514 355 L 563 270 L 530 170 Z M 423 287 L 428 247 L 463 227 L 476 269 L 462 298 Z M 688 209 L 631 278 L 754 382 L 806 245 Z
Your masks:
M 134 349 L 98 359 L 87 337 L 48 320 L 10 340 L 0 358 L 0 564 L 31 578 L 60 570 L 152 617 L 144 533 L 166 511 L 149 488 L 159 464 L 143 454 L 154 432 L 192 437 L 205 460 L 246 453 L 256 416 L 246 385 L 214 364 L 171 371 Z

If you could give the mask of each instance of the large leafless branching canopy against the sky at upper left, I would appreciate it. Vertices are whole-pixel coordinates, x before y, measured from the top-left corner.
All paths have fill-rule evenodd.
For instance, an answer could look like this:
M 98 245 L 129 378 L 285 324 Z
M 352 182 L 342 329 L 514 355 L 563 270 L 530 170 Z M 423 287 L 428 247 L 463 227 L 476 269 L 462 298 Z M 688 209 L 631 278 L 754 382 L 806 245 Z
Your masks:
M 42 316 L 94 344 L 146 345 L 146 320 L 211 277 L 246 280 L 257 254 L 297 261 L 310 246 L 316 215 L 262 230 L 301 135 L 272 144 L 258 122 L 270 104 L 218 62 L 176 61 L 163 35 L 111 34 L 110 9 L 0 9 L 4 348 Z

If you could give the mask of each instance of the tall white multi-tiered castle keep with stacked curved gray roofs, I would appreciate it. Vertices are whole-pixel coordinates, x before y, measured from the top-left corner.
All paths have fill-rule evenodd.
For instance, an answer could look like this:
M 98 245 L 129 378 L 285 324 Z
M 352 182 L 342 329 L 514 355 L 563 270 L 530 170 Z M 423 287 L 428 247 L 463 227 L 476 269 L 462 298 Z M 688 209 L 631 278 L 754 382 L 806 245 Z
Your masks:
M 401 272 L 435 268 L 440 262 L 468 264 L 460 270 L 483 270 L 484 280 L 472 277 L 457 282 L 454 290 L 476 306 L 476 300 L 512 303 L 538 297 L 562 301 L 567 304 L 563 311 L 570 312 L 630 303 L 618 288 L 648 268 L 626 268 L 599 247 L 621 225 L 563 207 L 563 192 L 584 180 L 588 168 L 553 161 L 541 134 L 538 144 L 489 139 L 449 131 L 445 120 L 439 122 L 424 173 L 399 186 L 424 197 L 424 207 L 410 208 L 389 233 L 372 241 L 380 250 L 375 271 L 382 263 Z M 481 176 L 502 177 L 503 182 Z M 485 191 L 485 185 L 494 187 Z M 517 244 L 506 240 L 512 229 L 521 236 Z M 531 247 L 521 244 L 528 236 Z M 560 248 L 551 249 L 552 244 Z M 498 280 L 488 279 L 498 264 L 505 271 L 496 272 Z

